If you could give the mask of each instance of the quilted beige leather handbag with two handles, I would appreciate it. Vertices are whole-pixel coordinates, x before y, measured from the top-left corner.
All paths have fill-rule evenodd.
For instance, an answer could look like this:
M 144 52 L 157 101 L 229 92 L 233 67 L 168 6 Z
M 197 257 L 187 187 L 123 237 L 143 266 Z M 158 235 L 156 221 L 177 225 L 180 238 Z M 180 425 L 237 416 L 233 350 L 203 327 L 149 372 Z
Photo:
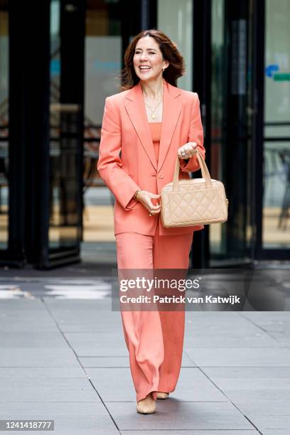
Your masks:
M 179 158 L 172 183 L 161 189 L 161 222 L 163 227 L 189 227 L 227 221 L 228 200 L 221 181 L 210 178 L 208 166 L 195 150 L 203 178 L 178 180 Z

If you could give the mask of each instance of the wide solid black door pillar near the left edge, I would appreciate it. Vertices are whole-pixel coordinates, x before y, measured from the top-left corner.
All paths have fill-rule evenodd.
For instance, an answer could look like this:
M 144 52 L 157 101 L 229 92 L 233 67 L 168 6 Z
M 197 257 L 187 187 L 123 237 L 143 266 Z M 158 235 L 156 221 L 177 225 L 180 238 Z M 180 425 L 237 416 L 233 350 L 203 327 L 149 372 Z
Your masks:
M 9 1 L 9 243 L 0 257 L 11 267 L 37 261 L 43 250 L 48 38 L 48 0 Z

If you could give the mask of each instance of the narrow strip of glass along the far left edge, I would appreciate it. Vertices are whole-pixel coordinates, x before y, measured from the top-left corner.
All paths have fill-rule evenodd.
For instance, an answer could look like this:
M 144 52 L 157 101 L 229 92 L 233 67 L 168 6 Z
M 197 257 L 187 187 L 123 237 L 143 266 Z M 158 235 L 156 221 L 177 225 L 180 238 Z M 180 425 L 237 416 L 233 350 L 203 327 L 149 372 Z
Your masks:
M 9 14 L 0 2 L 0 249 L 9 238 Z

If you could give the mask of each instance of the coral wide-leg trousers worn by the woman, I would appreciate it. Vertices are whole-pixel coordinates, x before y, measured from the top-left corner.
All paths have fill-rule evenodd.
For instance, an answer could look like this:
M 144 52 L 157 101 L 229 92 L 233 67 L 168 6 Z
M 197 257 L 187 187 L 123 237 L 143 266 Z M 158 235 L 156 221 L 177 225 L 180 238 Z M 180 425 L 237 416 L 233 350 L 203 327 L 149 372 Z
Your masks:
M 193 232 L 116 235 L 118 269 L 188 269 Z M 121 311 L 136 401 L 150 392 L 173 392 L 183 353 L 185 311 Z

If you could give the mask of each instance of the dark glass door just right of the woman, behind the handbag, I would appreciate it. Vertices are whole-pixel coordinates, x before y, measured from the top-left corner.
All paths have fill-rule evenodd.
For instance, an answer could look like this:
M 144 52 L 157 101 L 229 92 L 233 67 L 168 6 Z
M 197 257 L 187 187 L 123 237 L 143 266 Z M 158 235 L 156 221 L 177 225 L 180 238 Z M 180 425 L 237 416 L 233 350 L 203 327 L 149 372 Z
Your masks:
M 225 184 L 229 218 L 210 225 L 210 267 L 251 261 L 253 1 L 212 0 L 210 174 Z

